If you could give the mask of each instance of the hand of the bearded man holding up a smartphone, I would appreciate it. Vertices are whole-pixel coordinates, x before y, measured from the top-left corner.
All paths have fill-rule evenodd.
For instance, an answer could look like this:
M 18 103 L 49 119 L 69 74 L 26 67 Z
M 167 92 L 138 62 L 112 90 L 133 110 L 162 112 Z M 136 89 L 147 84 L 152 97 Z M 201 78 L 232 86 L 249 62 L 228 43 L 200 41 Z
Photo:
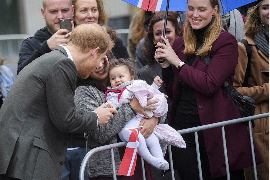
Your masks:
M 61 35 L 62 33 L 64 32 L 68 32 L 67 29 L 59 29 L 56 33 L 54 33 L 52 35 L 52 37 L 50 37 L 48 40 L 47 40 L 47 44 L 49 46 L 49 48 L 52 50 L 54 49 L 56 46 L 59 46 L 59 45 L 63 45 L 63 46 L 66 46 L 67 45 L 67 42 L 68 42 L 68 38 L 65 38 L 65 36 L 69 37 L 70 33 L 66 34 L 65 36 L 64 35 Z

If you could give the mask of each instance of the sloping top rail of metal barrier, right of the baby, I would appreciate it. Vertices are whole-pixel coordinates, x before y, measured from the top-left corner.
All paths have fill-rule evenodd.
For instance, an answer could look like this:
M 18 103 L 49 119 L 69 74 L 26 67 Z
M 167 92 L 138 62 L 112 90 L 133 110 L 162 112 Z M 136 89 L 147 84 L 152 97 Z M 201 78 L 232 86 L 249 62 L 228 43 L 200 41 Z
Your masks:
M 235 123 L 247 122 L 247 121 L 251 121 L 255 119 L 262 119 L 266 117 L 269 117 L 269 113 L 263 113 L 263 114 L 258 114 L 254 116 L 244 117 L 244 118 L 232 119 L 232 120 L 223 121 L 223 122 L 216 122 L 213 124 L 202 125 L 202 126 L 198 126 L 194 128 L 182 129 L 182 130 L 178 130 L 177 132 L 179 132 L 180 134 L 193 133 L 195 131 L 202 131 L 205 129 L 217 128 L 217 127 L 222 127 L 222 126 L 231 125 Z

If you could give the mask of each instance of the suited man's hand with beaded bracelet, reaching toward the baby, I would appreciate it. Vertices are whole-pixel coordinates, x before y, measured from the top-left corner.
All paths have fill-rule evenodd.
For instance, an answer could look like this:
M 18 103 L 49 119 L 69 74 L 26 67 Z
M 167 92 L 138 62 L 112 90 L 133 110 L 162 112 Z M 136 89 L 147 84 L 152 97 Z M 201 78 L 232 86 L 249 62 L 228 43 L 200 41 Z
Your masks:
M 108 123 L 109 119 L 113 118 L 113 113 L 118 113 L 114 108 L 105 108 L 105 104 L 102 104 L 100 107 L 94 110 L 99 117 L 99 125 L 104 125 Z

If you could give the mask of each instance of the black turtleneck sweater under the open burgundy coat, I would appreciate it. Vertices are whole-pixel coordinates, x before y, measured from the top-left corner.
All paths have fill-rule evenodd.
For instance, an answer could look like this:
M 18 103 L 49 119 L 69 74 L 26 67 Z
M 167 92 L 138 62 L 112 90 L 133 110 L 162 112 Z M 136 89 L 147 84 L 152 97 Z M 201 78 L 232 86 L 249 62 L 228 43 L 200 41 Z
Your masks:
M 209 26 L 210 24 L 208 24 L 202 29 L 194 30 L 194 33 L 197 39 L 196 50 L 203 44 L 204 42 L 203 36 Z M 189 56 L 185 62 L 185 65 L 192 66 L 192 63 L 194 59 L 196 58 L 196 56 L 197 55 L 195 54 Z M 164 75 L 167 75 L 166 77 L 164 77 L 163 75 L 164 82 L 165 84 L 168 84 L 170 80 L 173 78 L 172 67 L 170 66 L 166 69 L 163 69 L 163 72 L 164 72 L 163 73 Z M 194 89 L 190 88 L 188 85 L 181 84 L 181 90 L 182 91 L 181 91 L 178 106 L 176 108 L 177 110 L 176 110 L 174 121 L 185 122 L 185 123 L 200 123 Z

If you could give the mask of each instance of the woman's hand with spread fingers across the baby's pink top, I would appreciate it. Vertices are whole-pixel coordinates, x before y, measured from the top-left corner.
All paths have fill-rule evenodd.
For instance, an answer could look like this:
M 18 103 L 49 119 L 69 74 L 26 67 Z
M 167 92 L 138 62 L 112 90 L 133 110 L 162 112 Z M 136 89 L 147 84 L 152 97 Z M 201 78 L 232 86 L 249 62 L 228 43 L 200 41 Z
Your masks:
M 150 100 L 152 98 L 153 98 L 153 96 L 150 98 L 147 98 L 147 100 Z M 156 110 L 157 109 L 156 107 L 150 106 L 151 104 L 155 104 L 155 103 L 158 103 L 158 101 L 147 101 L 146 107 L 143 108 L 140 105 L 139 100 L 135 96 L 129 102 L 129 104 L 131 105 L 131 107 L 135 111 L 135 113 L 143 114 L 144 116 L 149 117 L 149 118 L 150 118 L 150 116 L 145 112 L 145 110 Z

